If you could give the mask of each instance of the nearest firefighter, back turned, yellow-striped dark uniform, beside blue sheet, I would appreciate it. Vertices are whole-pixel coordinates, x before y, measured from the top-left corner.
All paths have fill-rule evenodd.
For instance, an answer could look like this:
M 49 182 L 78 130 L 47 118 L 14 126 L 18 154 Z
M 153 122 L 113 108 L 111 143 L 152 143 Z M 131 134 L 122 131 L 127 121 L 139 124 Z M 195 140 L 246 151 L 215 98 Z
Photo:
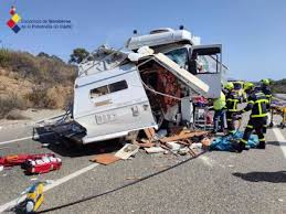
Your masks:
M 265 149 L 265 137 L 263 133 L 263 126 L 267 120 L 267 105 L 268 99 L 261 90 L 254 89 L 254 85 L 252 83 L 246 83 L 245 85 L 246 92 L 250 94 L 247 106 L 241 110 L 241 113 L 245 113 L 252 110 L 248 124 L 244 130 L 243 138 L 240 140 L 237 151 L 242 152 L 243 150 L 247 150 L 246 143 L 250 139 L 250 136 L 253 130 L 256 131 L 258 136 L 259 145 L 258 149 Z

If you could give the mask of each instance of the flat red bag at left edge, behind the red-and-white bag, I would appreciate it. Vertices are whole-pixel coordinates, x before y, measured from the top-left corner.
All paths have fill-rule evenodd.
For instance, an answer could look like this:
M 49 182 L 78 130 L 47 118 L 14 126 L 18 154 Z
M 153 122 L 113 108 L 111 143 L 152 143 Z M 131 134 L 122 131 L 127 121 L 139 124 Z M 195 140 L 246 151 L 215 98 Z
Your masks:
M 54 157 L 53 153 L 39 153 L 39 154 L 11 154 L 7 157 L 0 157 L 0 165 L 3 167 L 13 167 L 13 165 L 21 165 L 28 159 L 36 160 L 42 159 L 43 157 Z

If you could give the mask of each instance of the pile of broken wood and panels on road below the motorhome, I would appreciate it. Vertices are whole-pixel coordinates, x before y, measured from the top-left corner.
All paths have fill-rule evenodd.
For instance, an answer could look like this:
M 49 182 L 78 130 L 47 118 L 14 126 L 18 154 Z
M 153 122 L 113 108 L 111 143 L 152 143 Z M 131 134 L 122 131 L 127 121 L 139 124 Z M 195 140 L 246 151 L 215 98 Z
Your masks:
M 116 153 L 97 154 L 91 161 L 107 165 L 118 160 L 130 159 L 139 149 L 142 149 L 148 154 L 171 153 L 174 156 L 190 154 L 195 157 L 208 150 L 213 140 L 209 131 L 191 131 L 180 127 L 173 127 L 170 133 L 165 129 L 156 132 L 153 128 L 147 128 L 144 130 L 144 133 L 145 137 L 138 137 L 131 143 L 126 143 Z

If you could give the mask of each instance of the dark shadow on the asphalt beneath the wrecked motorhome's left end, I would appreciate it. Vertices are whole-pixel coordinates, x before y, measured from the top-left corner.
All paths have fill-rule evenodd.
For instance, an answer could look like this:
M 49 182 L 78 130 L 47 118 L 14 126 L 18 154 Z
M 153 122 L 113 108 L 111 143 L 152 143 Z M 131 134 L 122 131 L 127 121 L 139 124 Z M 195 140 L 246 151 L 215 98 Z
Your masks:
M 47 149 L 62 157 L 75 158 L 99 153 L 109 153 L 117 151 L 123 147 L 118 139 L 94 142 L 83 146 L 72 140 L 63 139 L 59 135 L 53 132 L 46 135 L 46 131 L 41 131 L 41 129 L 38 129 L 36 133 L 40 137 L 34 139 L 35 141 L 40 143 L 49 143 Z

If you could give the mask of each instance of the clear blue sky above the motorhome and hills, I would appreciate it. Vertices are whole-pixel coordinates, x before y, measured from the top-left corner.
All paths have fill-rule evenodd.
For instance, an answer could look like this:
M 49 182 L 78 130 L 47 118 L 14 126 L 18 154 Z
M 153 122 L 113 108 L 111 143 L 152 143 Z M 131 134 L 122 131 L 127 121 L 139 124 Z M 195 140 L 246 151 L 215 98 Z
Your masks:
M 23 20 L 71 20 L 72 29 L 14 33 L 6 25 L 11 6 Z M 2 47 L 65 61 L 76 47 L 121 47 L 135 29 L 145 34 L 181 24 L 202 44 L 222 44 L 230 77 L 286 78 L 285 0 L 0 0 Z

